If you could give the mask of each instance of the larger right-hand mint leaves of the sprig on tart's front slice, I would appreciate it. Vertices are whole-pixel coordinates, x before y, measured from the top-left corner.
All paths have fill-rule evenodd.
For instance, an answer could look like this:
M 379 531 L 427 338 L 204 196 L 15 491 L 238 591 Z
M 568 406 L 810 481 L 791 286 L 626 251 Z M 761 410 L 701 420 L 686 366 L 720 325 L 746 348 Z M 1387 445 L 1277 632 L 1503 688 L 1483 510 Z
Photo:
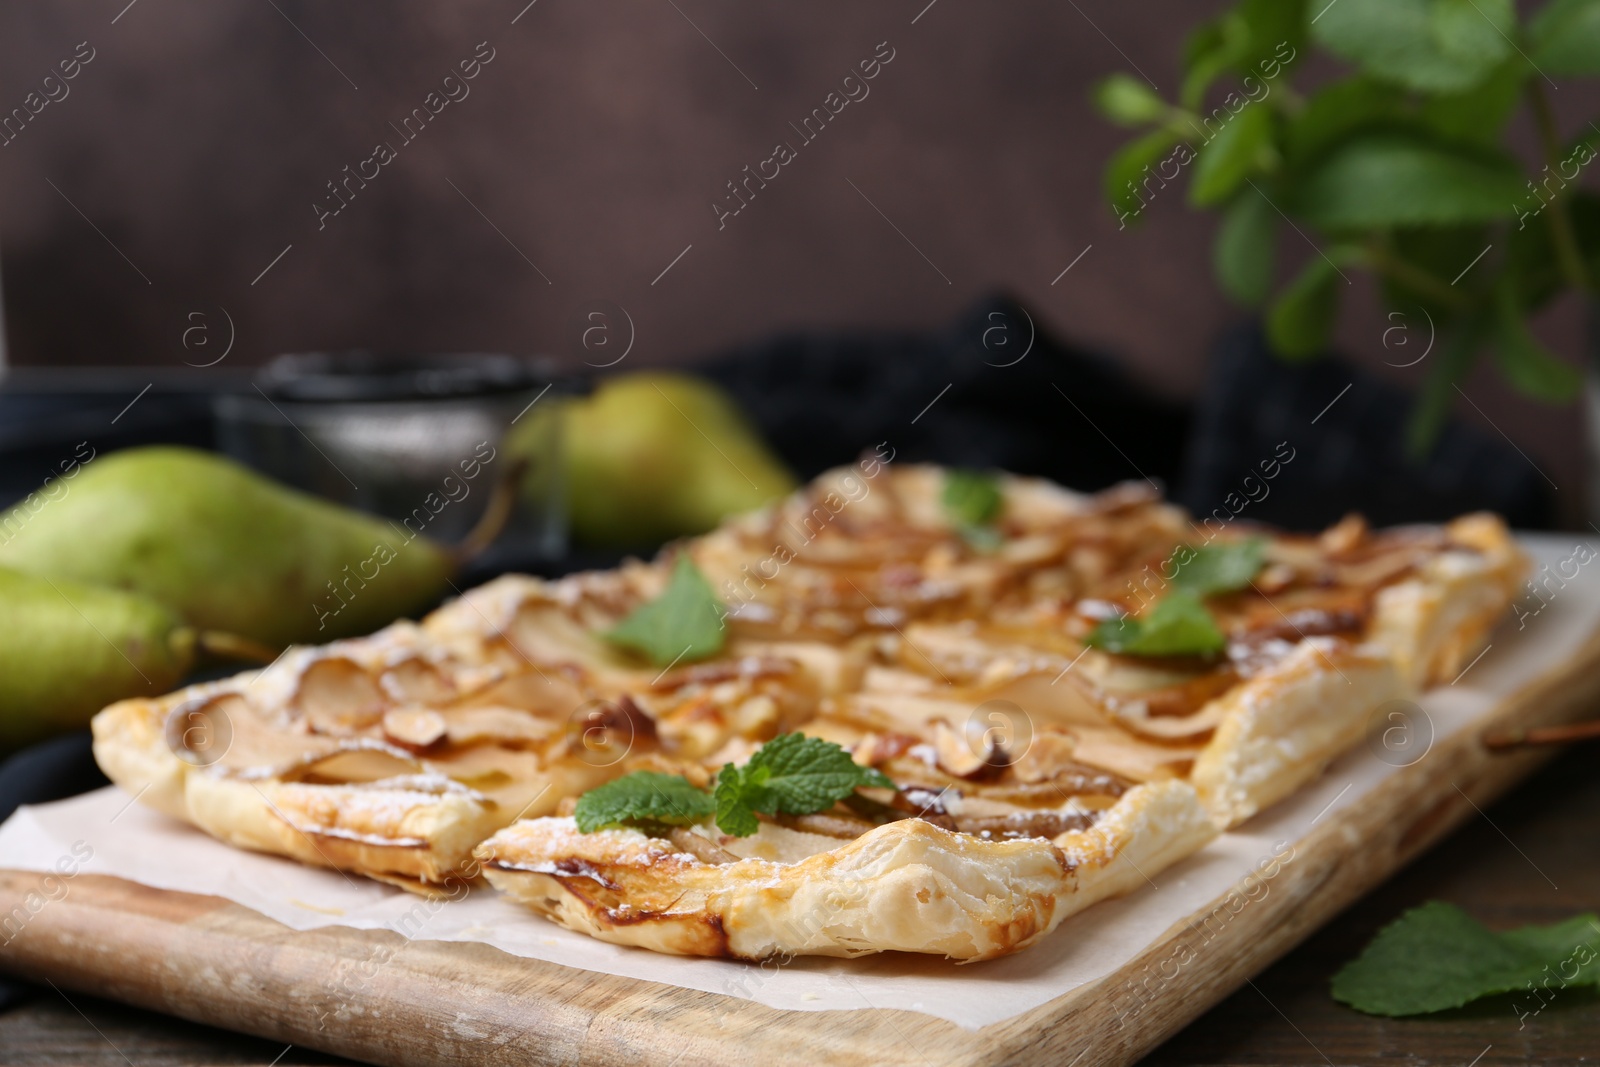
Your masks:
M 717 827 L 749 837 L 760 814 L 805 816 L 827 811 L 858 787 L 894 789 L 882 771 L 861 766 L 832 741 L 779 734 L 744 766 L 728 763 L 717 776 Z

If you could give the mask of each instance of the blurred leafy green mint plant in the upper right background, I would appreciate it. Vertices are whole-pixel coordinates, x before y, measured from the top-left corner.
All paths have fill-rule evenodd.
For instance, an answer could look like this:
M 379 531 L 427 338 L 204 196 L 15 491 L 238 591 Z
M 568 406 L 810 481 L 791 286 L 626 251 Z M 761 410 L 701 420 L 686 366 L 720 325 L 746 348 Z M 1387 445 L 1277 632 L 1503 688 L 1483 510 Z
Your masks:
M 1346 70 L 1296 88 L 1314 45 Z M 1578 181 L 1600 125 L 1563 138 L 1547 98 L 1550 78 L 1597 75 L 1600 0 L 1526 21 L 1510 0 L 1238 0 L 1189 35 L 1176 101 L 1128 74 L 1094 88 L 1109 120 L 1141 130 L 1107 163 L 1106 195 L 1126 226 L 1187 170 L 1189 203 L 1222 213 L 1218 282 L 1264 310 L 1283 358 L 1322 352 L 1349 272 L 1373 272 L 1392 312 L 1438 338 L 1410 430 L 1421 454 L 1485 350 L 1518 392 L 1578 392 L 1528 317 L 1563 290 L 1597 293 L 1600 197 Z M 1520 109 L 1538 170 L 1507 147 Z M 1317 251 L 1274 291 L 1283 232 Z

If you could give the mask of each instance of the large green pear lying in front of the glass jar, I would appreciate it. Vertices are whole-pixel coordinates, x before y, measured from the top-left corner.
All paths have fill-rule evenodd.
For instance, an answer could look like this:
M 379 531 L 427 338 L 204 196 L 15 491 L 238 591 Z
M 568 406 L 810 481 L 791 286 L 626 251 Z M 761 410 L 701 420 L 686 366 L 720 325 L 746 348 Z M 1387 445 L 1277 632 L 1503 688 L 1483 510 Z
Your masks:
M 0 515 L 0 566 L 152 597 L 274 648 L 368 633 L 450 587 L 450 550 L 211 453 L 130 448 Z

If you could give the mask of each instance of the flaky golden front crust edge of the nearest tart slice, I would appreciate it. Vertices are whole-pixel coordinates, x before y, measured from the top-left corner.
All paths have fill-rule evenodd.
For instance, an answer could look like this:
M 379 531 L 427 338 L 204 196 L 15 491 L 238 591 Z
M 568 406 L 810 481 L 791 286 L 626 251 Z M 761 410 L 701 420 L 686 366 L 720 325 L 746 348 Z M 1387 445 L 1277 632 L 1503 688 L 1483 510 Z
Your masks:
M 579 833 L 571 819 L 530 819 L 477 856 L 514 899 L 616 944 L 746 960 L 922 952 L 971 961 L 1034 944 L 1214 833 L 1194 790 L 1166 782 L 1131 790 L 1096 827 L 1053 841 L 982 840 L 923 819 L 843 845 L 763 825 L 723 841 L 744 859 L 706 864 L 638 830 Z

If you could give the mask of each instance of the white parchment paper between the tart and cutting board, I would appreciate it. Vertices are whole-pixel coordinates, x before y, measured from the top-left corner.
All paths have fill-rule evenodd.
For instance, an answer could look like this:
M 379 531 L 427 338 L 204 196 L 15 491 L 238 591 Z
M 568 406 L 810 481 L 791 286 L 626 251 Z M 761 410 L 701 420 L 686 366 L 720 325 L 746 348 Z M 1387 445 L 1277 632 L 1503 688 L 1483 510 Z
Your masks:
M 1579 544 L 1560 536 L 1525 536 L 1522 541 L 1534 566 L 1549 566 L 1550 574 L 1563 560 L 1574 560 Z M 1589 545 L 1576 560 L 1592 552 Z M 1600 625 L 1600 560 L 1568 563 L 1565 573 L 1574 568 L 1576 577 L 1550 579 L 1539 598 L 1525 595 L 1512 617 L 1494 632 L 1486 654 L 1458 681 L 1419 701 L 1435 741 L 1573 656 Z M 294 929 L 390 928 L 418 939 L 478 941 L 518 957 L 741 997 L 773 1008 L 901 1008 L 976 1030 L 1117 969 L 1229 888 L 1254 886 L 1243 881 L 1253 872 L 1256 878 L 1267 878 L 1270 891 L 1264 867 L 1270 870 L 1274 859 L 1328 811 L 1362 803 L 1397 769 L 1368 747 L 1357 749 L 1298 795 L 1157 873 L 1155 889 L 1146 886 L 1128 897 L 1098 904 L 1026 952 L 966 966 L 906 955 L 803 958 L 758 966 L 608 945 L 555 926 L 493 891 L 475 891 L 456 902 L 429 902 L 363 878 L 238 851 L 146 809 L 115 787 L 19 809 L 0 827 L 0 867 L 58 872 L 70 867 L 77 873 L 115 875 L 155 888 L 219 896 Z M 88 859 L 83 859 L 85 849 L 93 849 Z M 70 878 L 64 883 L 70 893 Z M 1253 893 L 1259 896 L 1261 889 L 1253 888 Z M 330 987 L 358 1000 L 358 989 L 341 990 L 334 984 L 339 981 L 350 984 L 349 976 L 330 976 Z M 360 1008 L 352 1005 L 352 1009 Z

